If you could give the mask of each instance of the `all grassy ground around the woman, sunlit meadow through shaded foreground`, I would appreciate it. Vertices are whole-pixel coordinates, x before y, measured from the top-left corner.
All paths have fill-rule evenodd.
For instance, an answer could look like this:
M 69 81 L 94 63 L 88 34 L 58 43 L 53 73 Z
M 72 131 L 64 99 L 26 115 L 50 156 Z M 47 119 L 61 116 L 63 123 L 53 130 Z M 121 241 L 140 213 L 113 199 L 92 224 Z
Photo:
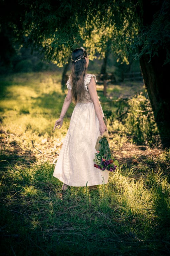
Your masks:
M 1 77 L 0 255 L 169 255 L 170 151 L 141 150 L 125 136 L 117 119 L 128 108 L 125 85 L 109 85 L 107 99 L 97 88 L 119 168 L 96 191 L 61 193 L 53 162 L 73 105 L 63 129 L 53 133 L 65 98 L 60 79 L 54 73 Z M 131 97 L 138 87 L 143 90 L 133 84 Z

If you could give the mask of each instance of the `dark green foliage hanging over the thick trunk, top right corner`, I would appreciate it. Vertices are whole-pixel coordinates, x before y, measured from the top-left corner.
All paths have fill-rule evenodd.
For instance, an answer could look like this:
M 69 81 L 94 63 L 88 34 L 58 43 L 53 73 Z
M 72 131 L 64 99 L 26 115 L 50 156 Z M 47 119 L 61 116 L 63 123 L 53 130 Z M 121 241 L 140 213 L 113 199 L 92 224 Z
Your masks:
M 134 55 L 135 59 L 140 58 L 143 54 L 147 53 L 150 56 L 150 60 L 153 56 L 159 53 L 162 48 L 166 52 L 165 62 L 170 61 L 169 52 L 169 34 L 170 34 L 170 21 L 169 10 L 170 2 L 166 1 L 152 1 L 151 8 L 157 10 L 153 16 L 151 24 L 141 25 L 137 37 L 134 37 L 134 42 L 131 47 L 139 47 L 141 50 Z

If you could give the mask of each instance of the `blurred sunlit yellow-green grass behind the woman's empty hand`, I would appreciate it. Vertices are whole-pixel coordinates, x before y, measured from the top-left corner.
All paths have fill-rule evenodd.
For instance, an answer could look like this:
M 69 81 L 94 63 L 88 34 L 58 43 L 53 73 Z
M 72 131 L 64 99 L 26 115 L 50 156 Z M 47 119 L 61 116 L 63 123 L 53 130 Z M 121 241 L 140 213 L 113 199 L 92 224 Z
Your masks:
M 10 80 L 10 77 L 8 78 Z M 52 129 L 55 120 L 60 115 L 65 93 L 61 90 L 58 76 L 35 73 L 11 75 L 11 84 L 1 86 L 4 94 L 1 95 L 0 110 L 3 125 L 12 133 L 21 135 L 27 130 L 44 135 L 46 132 L 53 135 Z M 72 107 L 68 110 L 71 115 Z M 63 127 L 68 127 L 65 119 Z M 65 129 L 56 131 L 55 136 L 66 133 Z

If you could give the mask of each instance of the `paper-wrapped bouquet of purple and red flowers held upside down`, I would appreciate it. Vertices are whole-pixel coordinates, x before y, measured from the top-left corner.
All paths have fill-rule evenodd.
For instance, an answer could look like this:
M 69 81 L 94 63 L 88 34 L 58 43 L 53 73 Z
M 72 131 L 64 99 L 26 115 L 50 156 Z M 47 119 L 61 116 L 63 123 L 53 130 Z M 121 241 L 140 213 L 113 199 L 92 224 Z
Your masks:
M 119 166 L 119 162 L 111 155 L 111 151 L 108 144 L 108 134 L 103 133 L 101 137 L 98 137 L 96 143 L 94 166 L 102 171 L 115 171 L 116 167 Z

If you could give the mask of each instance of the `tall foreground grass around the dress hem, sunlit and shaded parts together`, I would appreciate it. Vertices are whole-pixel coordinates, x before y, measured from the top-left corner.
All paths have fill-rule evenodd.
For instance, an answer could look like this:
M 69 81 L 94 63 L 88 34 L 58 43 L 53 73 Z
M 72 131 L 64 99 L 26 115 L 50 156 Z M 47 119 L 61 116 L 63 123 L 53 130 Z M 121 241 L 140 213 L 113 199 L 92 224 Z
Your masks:
M 1 178 L 1 252 L 6 255 L 166 255 L 169 185 L 162 173 L 145 179 L 120 167 L 96 191 L 52 177 L 46 162 L 14 167 Z M 124 169 L 124 174 L 129 170 Z M 2 240 L 1 240 L 2 242 Z

